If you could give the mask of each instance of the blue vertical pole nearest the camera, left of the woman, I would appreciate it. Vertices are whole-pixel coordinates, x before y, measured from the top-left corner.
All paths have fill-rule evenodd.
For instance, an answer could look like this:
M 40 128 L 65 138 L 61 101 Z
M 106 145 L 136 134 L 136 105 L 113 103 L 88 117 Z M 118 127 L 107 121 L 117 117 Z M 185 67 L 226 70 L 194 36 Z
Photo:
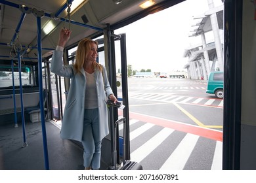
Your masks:
M 42 74 L 42 43 L 41 43 L 41 17 L 37 16 L 37 55 L 38 55 L 38 84 L 39 84 L 39 101 L 41 113 L 41 125 L 43 133 L 43 151 L 45 156 L 45 169 L 49 170 L 49 158 L 47 149 L 47 136 L 45 128 L 45 109 L 43 106 L 43 74 Z

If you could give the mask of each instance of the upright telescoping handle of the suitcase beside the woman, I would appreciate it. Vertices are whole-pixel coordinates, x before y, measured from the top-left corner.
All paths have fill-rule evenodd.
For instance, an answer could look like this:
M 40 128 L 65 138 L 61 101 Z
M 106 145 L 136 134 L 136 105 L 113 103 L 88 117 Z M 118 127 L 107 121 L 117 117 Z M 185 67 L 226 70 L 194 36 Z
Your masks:
M 120 118 L 119 120 L 117 120 L 115 122 L 115 136 L 114 136 L 114 139 L 115 139 L 115 146 L 114 146 L 114 166 L 115 166 L 115 170 L 116 170 L 116 158 L 117 158 L 117 152 L 116 152 L 116 138 L 117 138 L 117 133 L 119 131 L 117 131 L 117 125 L 120 123 L 120 122 L 123 122 L 123 165 L 125 165 L 125 159 L 126 159 L 126 155 L 125 155 L 125 139 L 126 139 L 126 134 L 125 134 L 125 118 Z M 119 133 L 118 133 L 119 134 Z M 119 136 L 119 135 L 118 135 Z

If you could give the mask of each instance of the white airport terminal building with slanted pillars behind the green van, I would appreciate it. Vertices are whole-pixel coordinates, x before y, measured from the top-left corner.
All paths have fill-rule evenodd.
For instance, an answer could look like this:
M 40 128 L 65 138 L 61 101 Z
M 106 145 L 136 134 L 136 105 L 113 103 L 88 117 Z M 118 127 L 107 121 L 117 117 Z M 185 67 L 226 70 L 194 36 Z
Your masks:
M 188 63 L 184 65 L 187 69 L 188 78 L 208 80 L 209 73 L 224 70 L 223 59 L 223 5 L 214 7 L 213 1 L 208 0 L 209 10 L 199 16 L 194 16 L 194 20 L 199 22 L 192 25 L 191 37 L 200 36 L 202 43 L 184 49 L 184 58 L 188 58 Z M 211 31 L 211 32 L 210 32 Z M 205 33 L 213 34 L 213 41 L 206 42 Z

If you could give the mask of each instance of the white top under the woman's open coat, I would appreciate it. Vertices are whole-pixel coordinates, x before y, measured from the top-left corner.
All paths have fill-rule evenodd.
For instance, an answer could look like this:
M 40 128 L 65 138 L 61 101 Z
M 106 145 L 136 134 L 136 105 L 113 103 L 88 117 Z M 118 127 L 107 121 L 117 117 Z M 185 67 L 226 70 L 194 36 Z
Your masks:
M 85 91 L 85 108 L 98 108 L 98 97 L 96 91 L 96 81 L 94 73 L 89 74 L 85 71 L 86 91 Z

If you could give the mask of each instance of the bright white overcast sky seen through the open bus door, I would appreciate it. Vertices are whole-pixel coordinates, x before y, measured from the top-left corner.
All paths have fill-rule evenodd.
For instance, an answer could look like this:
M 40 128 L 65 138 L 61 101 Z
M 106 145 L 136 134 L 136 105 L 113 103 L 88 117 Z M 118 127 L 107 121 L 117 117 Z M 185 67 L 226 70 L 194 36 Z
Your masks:
M 221 0 L 213 3 L 215 7 L 223 5 Z M 126 34 L 127 65 L 137 71 L 186 71 L 183 67 L 188 58 L 183 58 L 184 49 L 201 43 L 201 37 L 189 37 L 192 25 L 199 21 L 193 16 L 206 10 L 209 10 L 207 0 L 187 0 L 117 29 L 115 34 Z M 205 38 L 212 41 L 212 32 L 205 34 Z M 116 63 L 116 68 L 121 68 L 118 54 Z

